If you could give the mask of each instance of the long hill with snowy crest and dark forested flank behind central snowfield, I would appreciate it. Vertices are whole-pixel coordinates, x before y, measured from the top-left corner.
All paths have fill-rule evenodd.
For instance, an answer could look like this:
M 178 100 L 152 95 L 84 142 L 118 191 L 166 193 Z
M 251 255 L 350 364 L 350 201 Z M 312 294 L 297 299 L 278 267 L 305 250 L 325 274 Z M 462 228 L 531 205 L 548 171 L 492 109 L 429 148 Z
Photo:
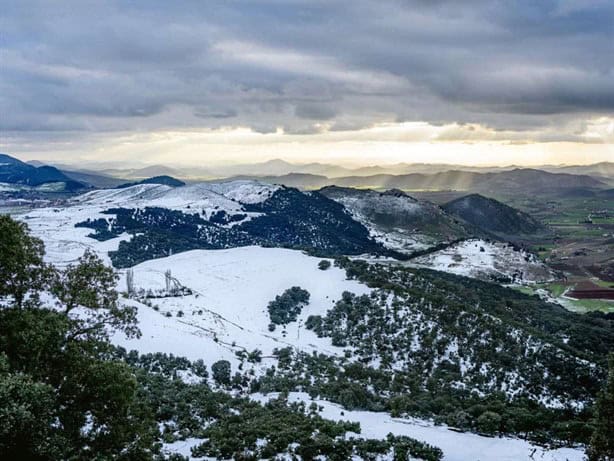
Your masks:
M 69 205 L 58 212 L 34 210 L 26 218 L 49 230 L 61 226 L 68 239 L 78 235 L 88 245 L 98 240 L 108 247 L 116 267 L 193 249 L 249 245 L 301 248 L 328 256 L 395 254 L 324 195 L 253 181 L 175 188 L 140 184 L 93 191 Z M 62 251 L 62 241 L 57 246 Z

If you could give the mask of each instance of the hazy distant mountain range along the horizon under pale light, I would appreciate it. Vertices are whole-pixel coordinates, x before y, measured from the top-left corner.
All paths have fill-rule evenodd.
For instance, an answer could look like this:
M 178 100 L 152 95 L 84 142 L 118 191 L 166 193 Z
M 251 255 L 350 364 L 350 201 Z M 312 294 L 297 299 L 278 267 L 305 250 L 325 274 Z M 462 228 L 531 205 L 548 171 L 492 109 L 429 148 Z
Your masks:
M 117 187 L 151 177 L 178 178 L 177 181 L 184 182 L 227 176 L 229 180 L 255 179 L 299 189 L 320 189 L 335 185 L 377 190 L 455 190 L 489 196 L 557 193 L 589 197 L 614 185 L 614 163 L 611 162 L 586 166 L 544 166 L 539 169 L 407 163 L 350 169 L 322 163 L 299 165 L 284 160 L 271 160 L 223 168 L 151 165 L 94 171 L 79 169 L 74 165 L 61 165 L 62 168 L 57 168 L 37 161 L 28 164 L 4 154 L 1 158 L 4 160 L 0 162 L 0 182 L 39 185 L 60 181 L 66 183 L 67 190 Z

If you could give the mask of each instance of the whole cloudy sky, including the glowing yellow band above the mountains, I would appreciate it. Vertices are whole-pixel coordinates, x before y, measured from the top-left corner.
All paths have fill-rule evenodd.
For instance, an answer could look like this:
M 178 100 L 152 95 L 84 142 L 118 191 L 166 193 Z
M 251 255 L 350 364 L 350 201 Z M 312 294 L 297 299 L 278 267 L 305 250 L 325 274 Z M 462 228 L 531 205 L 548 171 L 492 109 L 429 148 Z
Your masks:
M 0 151 L 614 161 L 614 2 L 0 0 Z

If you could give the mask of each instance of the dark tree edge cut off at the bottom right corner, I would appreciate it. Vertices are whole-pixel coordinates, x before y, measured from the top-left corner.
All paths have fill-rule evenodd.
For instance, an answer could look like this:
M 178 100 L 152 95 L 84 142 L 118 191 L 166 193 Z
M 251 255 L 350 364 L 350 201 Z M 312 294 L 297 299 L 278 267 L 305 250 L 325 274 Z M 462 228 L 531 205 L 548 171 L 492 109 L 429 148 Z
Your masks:
M 608 379 L 595 410 L 595 431 L 587 450 L 589 461 L 614 460 L 614 353 L 608 356 Z

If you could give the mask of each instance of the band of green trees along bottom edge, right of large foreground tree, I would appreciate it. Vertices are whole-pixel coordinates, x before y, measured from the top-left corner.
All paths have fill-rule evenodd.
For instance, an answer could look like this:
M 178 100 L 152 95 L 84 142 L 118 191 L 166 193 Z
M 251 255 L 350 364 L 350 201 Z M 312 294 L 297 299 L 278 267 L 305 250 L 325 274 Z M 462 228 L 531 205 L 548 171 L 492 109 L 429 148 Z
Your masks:
M 314 459 L 320 455 L 346 460 L 353 456 L 375 459 L 378 454 L 389 454 L 396 460 L 427 461 L 442 457 L 438 448 L 408 437 L 358 438 L 361 432 L 358 423 L 325 420 L 319 416 L 322 409 L 314 403 L 289 404 L 285 395 L 280 395 L 261 405 L 237 397 L 236 393 L 214 391 L 207 385 L 207 373 L 202 373 L 202 364 L 198 362 L 123 350 L 118 350 L 117 356 L 133 368 L 139 383 L 139 398 L 154 410 L 164 442 L 186 438 L 203 440 L 192 450 L 195 457 L 275 459 L 298 455 L 302 459 Z M 213 364 L 214 379 L 225 380 L 229 376 L 230 364 L 224 362 Z M 201 369 L 203 380 L 178 379 L 178 369 L 192 374 Z M 217 374 L 221 376 L 215 378 Z M 343 437 L 348 432 L 353 438 Z

